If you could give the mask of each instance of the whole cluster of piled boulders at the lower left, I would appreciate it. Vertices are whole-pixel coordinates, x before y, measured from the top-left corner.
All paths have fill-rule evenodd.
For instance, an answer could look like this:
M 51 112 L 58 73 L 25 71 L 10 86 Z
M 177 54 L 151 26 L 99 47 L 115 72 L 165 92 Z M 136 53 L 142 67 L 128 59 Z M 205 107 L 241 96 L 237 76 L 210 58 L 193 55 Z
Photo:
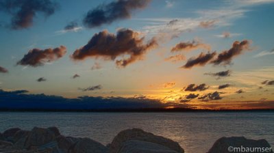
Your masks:
M 88 138 L 64 137 L 58 128 L 21 130 L 11 128 L 0 135 L 0 152 L 7 153 L 106 153 L 108 148 Z

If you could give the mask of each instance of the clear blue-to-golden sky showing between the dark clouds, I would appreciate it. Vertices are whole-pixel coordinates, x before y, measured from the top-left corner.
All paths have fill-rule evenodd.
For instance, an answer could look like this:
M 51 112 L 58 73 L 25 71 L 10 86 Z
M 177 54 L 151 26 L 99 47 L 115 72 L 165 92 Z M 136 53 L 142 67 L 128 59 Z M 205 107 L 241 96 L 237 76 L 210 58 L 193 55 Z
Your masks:
M 16 0 L 12 1 L 16 3 Z M 5 0 L 0 2 L 5 3 Z M 271 85 L 274 76 L 273 0 L 142 0 L 142 7 L 129 8 L 130 16 L 120 16 L 111 22 L 91 28 L 83 23 L 88 11 L 119 1 L 48 2 L 57 4 L 54 6 L 54 13 L 44 15 L 45 12 L 36 11 L 33 24 L 21 29 L 12 29 L 10 25 L 14 12 L 18 11 L 21 5 L 12 8 L 12 13 L 3 9 L 6 5 L 0 7 L 0 66 L 8 70 L 0 73 L 0 86 L 5 91 L 26 89 L 30 94 L 66 98 L 142 95 L 160 99 L 162 102 L 185 100 L 189 105 L 201 105 L 205 108 L 208 108 L 209 104 L 201 102 L 199 96 L 215 91 L 219 92 L 221 98 L 210 99 L 212 106 L 218 105 L 218 102 L 227 102 L 226 105 L 231 101 L 274 100 L 274 88 Z M 64 29 L 71 22 L 77 25 L 70 30 Z M 127 59 L 129 52 L 119 54 L 114 60 L 104 59 L 100 53 L 87 56 L 84 60 L 73 60 L 71 57 L 77 49 L 88 44 L 96 33 L 107 30 L 108 33 L 116 35 L 123 28 L 134 31 L 138 38 L 144 37 L 143 44 L 155 39 L 158 45 L 145 50 L 140 56 L 136 55 L 137 59 L 123 68 L 118 68 L 115 61 Z M 234 42 L 243 40 L 249 42 L 248 47 L 233 56 L 229 64 L 214 66 L 208 61 L 191 68 L 180 68 L 200 53 L 216 51 L 214 59 L 223 51 L 232 48 Z M 182 48 L 172 53 L 171 48 L 179 42 L 199 44 L 199 47 L 190 51 L 188 48 Z M 43 66 L 16 65 L 34 48 L 43 51 L 61 45 L 66 47 L 66 54 L 45 62 Z M 203 47 L 204 45 L 210 46 L 210 49 Z M 168 57 L 175 55 L 184 59 L 168 61 Z M 232 72 L 228 77 L 205 75 L 226 70 Z M 79 77 L 73 79 L 75 74 Z M 37 79 L 41 77 L 46 81 L 38 82 Z M 262 81 L 266 80 L 270 82 L 269 85 L 262 84 Z M 191 93 L 184 91 L 184 87 L 190 84 L 202 83 L 206 83 L 208 89 Z M 219 90 L 218 86 L 223 84 L 230 86 Z M 101 85 L 101 88 L 88 92 L 81 90 L 96 85 Z M 240 89 L 244 92 L 237 94 Z M 199 96 L 189 100 L 186 99 L 189 94 Z

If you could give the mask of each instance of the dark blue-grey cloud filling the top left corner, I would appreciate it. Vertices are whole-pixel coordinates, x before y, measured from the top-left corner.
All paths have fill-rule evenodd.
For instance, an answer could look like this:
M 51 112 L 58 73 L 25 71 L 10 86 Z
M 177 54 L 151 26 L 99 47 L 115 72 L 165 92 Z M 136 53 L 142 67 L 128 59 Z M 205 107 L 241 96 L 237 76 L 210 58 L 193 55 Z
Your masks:
M 57 8 L 57 3 L 50 0 L 1 0 L 0 10 L 12 16 L 12 29 L 32 27 L 34 17 L 42 13 L 50 16 Z

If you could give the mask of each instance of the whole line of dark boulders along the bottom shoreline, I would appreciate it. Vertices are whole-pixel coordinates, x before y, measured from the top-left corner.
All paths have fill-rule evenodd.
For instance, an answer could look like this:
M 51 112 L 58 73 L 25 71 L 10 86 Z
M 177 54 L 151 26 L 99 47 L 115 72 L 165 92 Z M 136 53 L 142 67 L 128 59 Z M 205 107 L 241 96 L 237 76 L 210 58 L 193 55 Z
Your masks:
M 271 148 L 264 140 L 222 137 L 208 153 L 229 152 L 229 146 Z M 66 137 L 56 127 L 22 130 L 10 128 L 0 133 L 0 153 L 184 153 L 179 143 L 138 128 L 121 131 L 111 143 L 103 145 L 90 138 Z M 231 152 L 231 151 L 230 151 Z M 273 150 L 270 151 L 273 153 Z

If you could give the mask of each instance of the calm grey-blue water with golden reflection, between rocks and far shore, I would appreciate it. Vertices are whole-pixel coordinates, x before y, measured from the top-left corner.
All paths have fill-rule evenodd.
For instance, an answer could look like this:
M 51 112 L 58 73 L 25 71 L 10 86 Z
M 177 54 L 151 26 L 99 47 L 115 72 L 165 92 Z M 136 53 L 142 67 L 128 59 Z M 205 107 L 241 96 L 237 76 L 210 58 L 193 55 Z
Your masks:
M 103 144 L 127 128 L 168 137 L 186 153 L 207 152 L 220 137 L 266 139 L 274 147 L 274 112 L 219 113 L 0 113 L 0 131 L 12 127 L 57 126 L 63 135 Z

